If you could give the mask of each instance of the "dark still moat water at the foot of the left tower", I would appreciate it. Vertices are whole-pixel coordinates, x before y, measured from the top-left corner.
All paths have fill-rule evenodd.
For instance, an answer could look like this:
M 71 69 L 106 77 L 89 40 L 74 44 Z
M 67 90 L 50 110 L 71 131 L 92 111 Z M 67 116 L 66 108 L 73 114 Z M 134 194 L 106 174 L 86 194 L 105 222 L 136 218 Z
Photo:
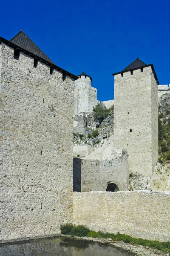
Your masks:
M 0 256 L 132 256 L 96 242 L 52 237 L 0 245 Z

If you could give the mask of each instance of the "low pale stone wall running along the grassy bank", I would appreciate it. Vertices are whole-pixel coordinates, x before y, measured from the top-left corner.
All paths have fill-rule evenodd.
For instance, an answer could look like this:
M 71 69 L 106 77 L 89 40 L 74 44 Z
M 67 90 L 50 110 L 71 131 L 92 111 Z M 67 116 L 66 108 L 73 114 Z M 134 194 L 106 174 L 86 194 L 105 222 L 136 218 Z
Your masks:
M 74 192 L 74 224 L 136 238 L 170 239 L 170 192 Z

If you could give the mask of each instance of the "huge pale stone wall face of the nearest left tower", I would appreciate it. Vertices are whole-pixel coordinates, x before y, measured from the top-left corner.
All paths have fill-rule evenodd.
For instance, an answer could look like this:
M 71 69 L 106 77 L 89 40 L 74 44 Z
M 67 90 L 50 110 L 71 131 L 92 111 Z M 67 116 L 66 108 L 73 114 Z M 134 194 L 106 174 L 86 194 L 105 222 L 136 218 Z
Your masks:
M 0 240 L 51 236 L 72 218 L 74 81 L 0 45 Z

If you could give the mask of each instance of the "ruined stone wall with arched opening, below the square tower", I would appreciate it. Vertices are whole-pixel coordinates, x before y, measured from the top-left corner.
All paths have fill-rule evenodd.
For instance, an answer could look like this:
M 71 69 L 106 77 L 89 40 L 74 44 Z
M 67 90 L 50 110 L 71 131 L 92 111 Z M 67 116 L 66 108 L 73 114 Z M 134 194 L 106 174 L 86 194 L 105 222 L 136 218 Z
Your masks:
M 81 192 L 106 191 L 108 182 L 116 183 L 119 190 L 129 188 L 128 156 L 125 152 L 113 160 L 79 160 L 74 161 L 73 182 L 81 183 Z

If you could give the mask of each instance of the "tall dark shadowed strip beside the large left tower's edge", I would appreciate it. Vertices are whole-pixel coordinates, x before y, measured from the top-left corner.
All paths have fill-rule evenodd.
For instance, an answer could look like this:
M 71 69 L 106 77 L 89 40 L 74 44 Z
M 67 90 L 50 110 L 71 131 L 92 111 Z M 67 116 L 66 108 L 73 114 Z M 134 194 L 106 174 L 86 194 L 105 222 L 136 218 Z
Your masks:
M 73 191 L 81 192 L 82 183 L 82 160 L 73 158 Z

